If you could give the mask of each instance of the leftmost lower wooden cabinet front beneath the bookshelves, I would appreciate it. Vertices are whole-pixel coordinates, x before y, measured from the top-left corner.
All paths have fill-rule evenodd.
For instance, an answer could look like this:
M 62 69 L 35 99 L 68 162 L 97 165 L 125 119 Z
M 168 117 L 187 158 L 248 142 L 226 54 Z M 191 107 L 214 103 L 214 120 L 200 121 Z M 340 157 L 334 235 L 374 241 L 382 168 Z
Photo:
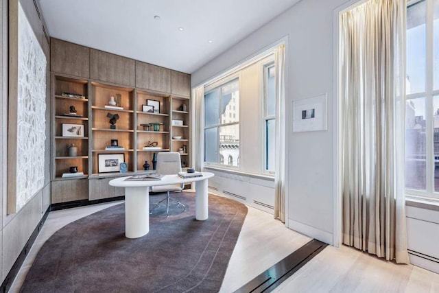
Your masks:
M 51 203 L 86 200 L 88 198 L 88 180 L 72 179 L 51 182 Z

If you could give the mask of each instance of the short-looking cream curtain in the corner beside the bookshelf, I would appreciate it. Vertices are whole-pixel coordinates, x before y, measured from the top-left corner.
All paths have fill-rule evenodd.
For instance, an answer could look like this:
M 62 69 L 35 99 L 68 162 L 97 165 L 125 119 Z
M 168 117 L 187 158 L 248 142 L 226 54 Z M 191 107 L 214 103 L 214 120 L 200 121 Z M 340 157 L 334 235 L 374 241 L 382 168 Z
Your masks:
M 195 123 L 193 124 L 192 150 L 195 156 L 195 169 L 202 171 L 204 163 L 204 86 L 195 89 Z

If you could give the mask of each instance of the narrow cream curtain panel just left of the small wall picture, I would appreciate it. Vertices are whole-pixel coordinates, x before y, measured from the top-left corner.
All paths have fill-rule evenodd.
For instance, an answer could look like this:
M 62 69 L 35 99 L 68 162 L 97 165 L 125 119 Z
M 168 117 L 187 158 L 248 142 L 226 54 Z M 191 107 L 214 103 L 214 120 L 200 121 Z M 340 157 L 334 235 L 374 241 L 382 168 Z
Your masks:
M 276 65 L 276 176 L 274 178 L 274 218 L 285 223 L 285 45 L 274 50 Z

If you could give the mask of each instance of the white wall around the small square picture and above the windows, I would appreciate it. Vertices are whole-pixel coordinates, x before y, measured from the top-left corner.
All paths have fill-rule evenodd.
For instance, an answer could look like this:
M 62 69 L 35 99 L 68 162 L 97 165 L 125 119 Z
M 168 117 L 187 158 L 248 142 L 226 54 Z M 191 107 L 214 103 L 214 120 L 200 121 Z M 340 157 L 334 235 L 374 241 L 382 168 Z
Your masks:
M 333 244 L 333 11 L 346 0 L 302 0 L 192 73 L 213 78 L 287 38 L 287 225 Z M 328 130 L 291 132 L 293 99 L 328 94 Z M 258 131 L 258 130 L 255 130 Z

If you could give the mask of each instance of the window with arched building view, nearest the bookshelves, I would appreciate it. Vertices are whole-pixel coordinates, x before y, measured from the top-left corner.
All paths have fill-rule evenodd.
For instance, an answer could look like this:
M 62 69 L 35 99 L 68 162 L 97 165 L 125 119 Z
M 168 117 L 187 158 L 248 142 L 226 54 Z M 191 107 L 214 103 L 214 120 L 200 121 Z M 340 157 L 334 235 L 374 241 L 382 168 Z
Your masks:
M 239 167 L 239 80 L 204 95 L 204 162 Z

